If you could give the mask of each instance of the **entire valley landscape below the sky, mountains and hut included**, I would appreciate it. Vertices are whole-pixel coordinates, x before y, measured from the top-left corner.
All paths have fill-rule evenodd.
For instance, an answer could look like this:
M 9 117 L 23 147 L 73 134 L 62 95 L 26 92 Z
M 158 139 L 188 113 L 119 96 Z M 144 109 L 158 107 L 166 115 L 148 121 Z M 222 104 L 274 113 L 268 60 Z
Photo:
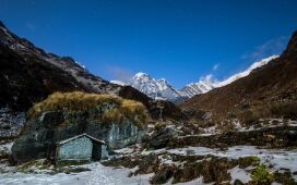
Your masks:
M 226 81 L 108 82 L 0 23 L 0 184 L 296 184 L 296 71 L 297 32 Z

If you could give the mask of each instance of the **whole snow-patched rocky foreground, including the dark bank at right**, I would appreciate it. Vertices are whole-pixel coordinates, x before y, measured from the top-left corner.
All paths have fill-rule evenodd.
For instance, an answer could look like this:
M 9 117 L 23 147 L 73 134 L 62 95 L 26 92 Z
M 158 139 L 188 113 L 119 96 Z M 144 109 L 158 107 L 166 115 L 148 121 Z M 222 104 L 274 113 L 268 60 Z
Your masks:
M 0 144 L 0 184 L 297 184 L 297 122 L 262 120 L 194 126 L 148 124 L 142 144 L 108 160 L 55 166 L 39 159 L 11 166 L 13 140 Z

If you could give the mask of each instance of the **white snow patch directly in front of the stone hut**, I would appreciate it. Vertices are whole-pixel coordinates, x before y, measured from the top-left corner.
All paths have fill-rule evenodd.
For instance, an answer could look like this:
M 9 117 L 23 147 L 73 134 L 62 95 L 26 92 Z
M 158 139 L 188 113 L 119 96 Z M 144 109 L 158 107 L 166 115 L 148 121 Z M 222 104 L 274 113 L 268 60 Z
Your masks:
M 129 169 L 115 169 L 104 166 L 100 163 L 92 163 L 82 165 L 92 171 L 82 173 L 58 173 L 58 174 L 26 174 L 26 173 L 0 173 L 0 184 L 38 184 L 38 185 L 148 185 L 150 178 L 154 174 L 136 175 L 128 177 L 131 170 Z

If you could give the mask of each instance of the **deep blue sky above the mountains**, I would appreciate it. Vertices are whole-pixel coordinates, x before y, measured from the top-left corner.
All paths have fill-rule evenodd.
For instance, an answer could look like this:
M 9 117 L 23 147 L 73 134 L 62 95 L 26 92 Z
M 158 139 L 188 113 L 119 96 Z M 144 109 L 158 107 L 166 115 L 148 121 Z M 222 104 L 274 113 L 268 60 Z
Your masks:
M 106 79 L 142 71 L 181 87 L 280 53 L 297 29 L 296 8 L 296 0 L 0 0 L 0 20 Z

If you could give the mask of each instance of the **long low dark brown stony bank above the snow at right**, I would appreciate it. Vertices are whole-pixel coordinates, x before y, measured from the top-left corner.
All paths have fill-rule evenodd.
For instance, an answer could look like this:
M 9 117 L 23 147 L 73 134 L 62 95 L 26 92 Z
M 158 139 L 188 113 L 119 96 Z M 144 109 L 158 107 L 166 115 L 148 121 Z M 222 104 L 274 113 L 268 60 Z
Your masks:
M 297 146 L 297 126 L 274 126 L 247 132 L 230 132 L 225 134 L 177 137 L 167 143 L 167 147 L 199 146 L 225 148 L 236 145 L 265 146 L 284 148 Z

